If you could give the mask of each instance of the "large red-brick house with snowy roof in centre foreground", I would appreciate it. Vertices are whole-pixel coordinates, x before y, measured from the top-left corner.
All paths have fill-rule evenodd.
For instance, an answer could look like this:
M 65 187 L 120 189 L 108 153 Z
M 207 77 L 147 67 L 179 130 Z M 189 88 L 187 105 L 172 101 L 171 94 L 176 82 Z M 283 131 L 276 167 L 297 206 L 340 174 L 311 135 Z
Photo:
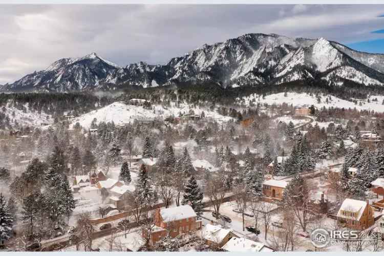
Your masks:
M 189 205 L 173 208 L 158 208 L 155 211 L 156 227 L 151 232 L 150 244 L 154 245 L 161 238 L 175 238 L 179 234 L 201 229 L 201 220 L 197 220 L 196 212 Z M 143 236 L 145 234 L 143 233 Z

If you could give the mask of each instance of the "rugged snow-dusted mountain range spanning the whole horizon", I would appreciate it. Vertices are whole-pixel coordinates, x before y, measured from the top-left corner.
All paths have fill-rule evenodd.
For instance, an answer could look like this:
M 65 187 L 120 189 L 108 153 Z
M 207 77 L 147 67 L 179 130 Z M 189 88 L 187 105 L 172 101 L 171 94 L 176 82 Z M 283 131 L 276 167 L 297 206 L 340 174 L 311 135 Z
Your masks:
M 348 80 L 384 86 L 384 54 L 358 52 L 325 38 L 245 34 L 203 45 L 165 65 L 138 62 L 119 67 L 96 53 L 63 58 L 0 90 L 67 92 L 188 83 L 228 88 L 317 79 L 339 86 Z

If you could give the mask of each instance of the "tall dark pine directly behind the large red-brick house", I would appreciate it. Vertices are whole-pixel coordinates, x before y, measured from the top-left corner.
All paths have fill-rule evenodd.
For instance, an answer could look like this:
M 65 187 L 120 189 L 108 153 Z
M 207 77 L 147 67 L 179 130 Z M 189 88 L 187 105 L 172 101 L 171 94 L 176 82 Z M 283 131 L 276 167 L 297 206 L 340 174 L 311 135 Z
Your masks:
M 202 200 L 203 193 L 201 192 L 194 176 L 191 176 L 184 185 L 184 194 L 181 204 L 190 205 L 195 210 L 198 218 L 200 218 L 203 208 Z

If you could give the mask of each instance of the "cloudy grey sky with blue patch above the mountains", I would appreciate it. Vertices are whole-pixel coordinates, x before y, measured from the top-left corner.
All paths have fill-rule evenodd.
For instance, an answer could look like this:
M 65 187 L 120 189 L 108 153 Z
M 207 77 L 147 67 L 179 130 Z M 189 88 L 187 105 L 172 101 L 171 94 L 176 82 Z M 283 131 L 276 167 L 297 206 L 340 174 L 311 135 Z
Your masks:
M 96 52 L 164 64 L 246 33 L 335 40 L 384 53 L 384 5 L 1 5 L 0 84 Z

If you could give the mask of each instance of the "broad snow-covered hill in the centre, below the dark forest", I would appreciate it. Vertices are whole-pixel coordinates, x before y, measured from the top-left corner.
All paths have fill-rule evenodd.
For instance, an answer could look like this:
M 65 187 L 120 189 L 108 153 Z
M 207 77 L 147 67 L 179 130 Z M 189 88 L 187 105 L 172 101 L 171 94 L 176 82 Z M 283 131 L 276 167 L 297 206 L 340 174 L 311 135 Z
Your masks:
M 206 118 L 214 118 L 218 122 L 229 121 L 231 117 L 222 116 L 216 111 L 202 109 L 199 106 L 191 108 L 188 104 L 180 104 L 176 106 L 174 102 L 171 106 L 153 105 L 152 110 L 144 109 L 142 106 L 129 105 L 124 102 L 117 101 L 101 109 L 91 111 L 75 118 L 72 126 L 79 122 L 81 126 L 89 129 L 93 119 L 97 122 L 114 122 L 115 124 L 125 124 L 133 122 L 135 119 L 154 119 L 157 117 L 165 118 L 168 116 L 179 116 L 179 113 L 188 114 L 189 110 L 193 110 L 196 115 L 200 115 L 203 111 Z

